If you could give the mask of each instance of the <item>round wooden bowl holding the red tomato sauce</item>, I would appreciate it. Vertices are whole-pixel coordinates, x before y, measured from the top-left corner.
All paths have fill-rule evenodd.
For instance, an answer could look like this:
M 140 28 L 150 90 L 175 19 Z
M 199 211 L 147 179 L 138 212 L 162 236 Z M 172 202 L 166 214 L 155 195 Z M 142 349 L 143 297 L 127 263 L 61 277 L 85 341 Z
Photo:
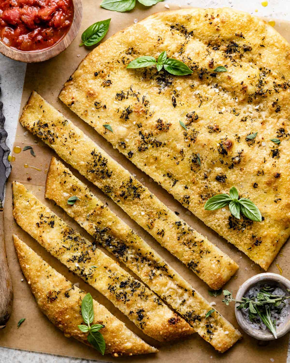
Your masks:
M 61 40 L 55 43 L 55 45 L 43 50 L 24 52 L 22 50 L 10 48 L 9 46 L 5 45 L 3 42 L 0 41 L 0 53 L 16 61 L 26 63 L 47 61 L 48 59 L 57 56 L 71 44 L 71 42 L 76 37 L 76 34 L 78 34 L 80 24 L 82 23 L 82 0 L 72 0 L 72 3 L 74 5 L 74 19 L 72 20 L 70 29 L 67 34 L 63 38 L 61 38 Z

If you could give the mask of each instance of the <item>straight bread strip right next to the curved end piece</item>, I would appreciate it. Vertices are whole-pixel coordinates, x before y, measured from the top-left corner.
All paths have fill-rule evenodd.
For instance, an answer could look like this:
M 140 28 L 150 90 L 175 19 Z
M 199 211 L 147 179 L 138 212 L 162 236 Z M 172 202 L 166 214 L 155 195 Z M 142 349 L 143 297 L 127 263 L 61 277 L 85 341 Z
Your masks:
M 194 332 L 144 284 L 74 231 L 23 184 L 14 181 L 12 190 L 13 216 L 20 227 L 71 271 L 100 291 L 145 334 L 164 341 Z

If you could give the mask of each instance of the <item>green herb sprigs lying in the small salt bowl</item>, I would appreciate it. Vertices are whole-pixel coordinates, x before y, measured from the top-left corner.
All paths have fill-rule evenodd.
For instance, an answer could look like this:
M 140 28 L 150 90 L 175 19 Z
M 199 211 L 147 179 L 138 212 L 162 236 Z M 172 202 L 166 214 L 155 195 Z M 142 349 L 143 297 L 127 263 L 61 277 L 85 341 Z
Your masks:
M 249 320 L 252 322 L 257 322 L 260 320 L 266 325 L 269 331 L 277 339 L 276 333 L 276 320 L 272 320 L 271 311 L 274 309 L 281 312 L 283 306 L 285 305 L 285 300 L 290 299 L 290 296 L 286 295 L 274 295 L 272 294 L 274 287 L 265 286 L 261 288 L 256 296 L 256 298 L 246 298 L 242 297 L 241 300 L 236 300 L 233 298 L 231 291 L 224 290 L 224 299 L 222 300 L 225 305 L 229 305 L 231 301 L 237 302 L 240 305 L 236 306 L 237 310 L 249 309 Z M 289 290 L 287 290 L 289 292 Z

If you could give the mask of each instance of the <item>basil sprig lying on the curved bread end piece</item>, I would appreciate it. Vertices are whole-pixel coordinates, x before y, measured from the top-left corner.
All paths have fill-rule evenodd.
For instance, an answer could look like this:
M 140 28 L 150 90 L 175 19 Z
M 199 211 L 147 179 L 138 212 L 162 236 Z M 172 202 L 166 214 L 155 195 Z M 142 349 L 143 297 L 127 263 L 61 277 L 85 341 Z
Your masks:
M 86 294 L 82 301 L 82 317 L 87 325 L 78 325 L 78 328 L 83 333 L 88 332 L 88 342 L 96 348 L 102 355 L 105 354 L 106 343 L 103 335 L 99 332 L 105 326 L 102 324 L 90 325 L 94 320 L 94 303 L 90 293 Z

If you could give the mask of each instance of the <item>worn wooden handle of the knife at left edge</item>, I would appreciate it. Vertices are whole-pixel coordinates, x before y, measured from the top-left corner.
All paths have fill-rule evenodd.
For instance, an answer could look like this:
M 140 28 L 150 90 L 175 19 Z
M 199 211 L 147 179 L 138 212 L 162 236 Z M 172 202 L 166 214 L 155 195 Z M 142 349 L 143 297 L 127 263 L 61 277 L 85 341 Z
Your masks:
M 10 318 L 12 302 L 12 281 L 4 241 L 4 212 L 0 211 L 0 329 L 5 328 Z

